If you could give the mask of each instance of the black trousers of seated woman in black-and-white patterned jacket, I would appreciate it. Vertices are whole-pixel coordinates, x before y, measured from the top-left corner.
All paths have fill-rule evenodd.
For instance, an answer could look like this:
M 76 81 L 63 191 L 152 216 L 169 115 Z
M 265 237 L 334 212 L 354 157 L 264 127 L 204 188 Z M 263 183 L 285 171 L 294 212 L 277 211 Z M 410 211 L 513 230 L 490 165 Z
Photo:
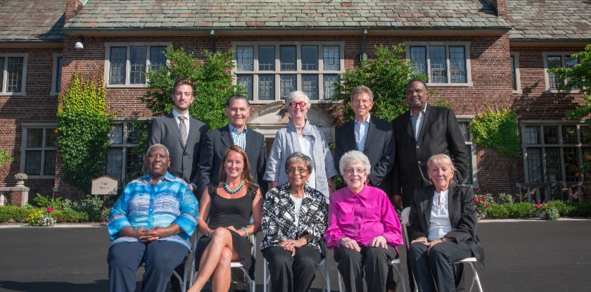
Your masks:
M 307 292 L 316 277 L 318 262 L 322 254 L 310 246 L 295 249 L 292 257 L 279 246 L 261 250 L 262 256 L 269 262 L 272 291 Z

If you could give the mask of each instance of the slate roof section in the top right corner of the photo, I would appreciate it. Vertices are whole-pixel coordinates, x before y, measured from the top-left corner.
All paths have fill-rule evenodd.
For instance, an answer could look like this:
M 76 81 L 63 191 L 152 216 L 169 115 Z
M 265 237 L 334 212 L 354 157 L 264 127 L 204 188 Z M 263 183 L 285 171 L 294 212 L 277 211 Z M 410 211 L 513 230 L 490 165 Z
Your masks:
M 591 41 L 591 0 L 507 0 L 511 41 Z

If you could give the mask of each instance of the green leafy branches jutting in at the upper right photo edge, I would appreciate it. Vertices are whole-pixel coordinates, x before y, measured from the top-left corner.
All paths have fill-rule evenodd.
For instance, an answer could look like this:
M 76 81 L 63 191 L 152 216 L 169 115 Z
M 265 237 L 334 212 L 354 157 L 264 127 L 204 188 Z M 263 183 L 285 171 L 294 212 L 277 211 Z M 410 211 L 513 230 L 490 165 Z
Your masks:
M 572 56 L 579 61 L 574 68 L 552 68 L 548 72 L 555 73 L 561 80 L 568 79 L 568 82 L 560 86 L 559 90 L 578 89 L 583 93 L 586 103 L 575 110 L 566 111 L 566 117 L 585 118 L 591 114 L 591 44 L 585 46 L 585 51 L 573 53 Z M 591 119 L 586 121 L 591 122 Z

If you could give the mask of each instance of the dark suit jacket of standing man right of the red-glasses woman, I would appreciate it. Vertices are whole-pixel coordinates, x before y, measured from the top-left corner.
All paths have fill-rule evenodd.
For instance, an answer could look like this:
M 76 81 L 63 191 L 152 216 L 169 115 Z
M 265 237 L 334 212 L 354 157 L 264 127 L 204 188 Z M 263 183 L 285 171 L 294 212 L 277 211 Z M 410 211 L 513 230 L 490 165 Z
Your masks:
M 369 128 L 367 129 L 367 138 L 365 139 L 365 147 L 363 153 L 369 158 L 371 164 L 371 172 L 369 179 L 371 184 L 378 187 L 386 194 L 390 195 L 390 170 L 392 170 L 395 153 L 395 139 L 394 139 L 392 125 L 385 120 L 371 115 L 369 118 Z M 352 120 L 340 129 L 336 138 L 336 148 L 334 151 L 334 165 L 339 174 L 341 169 L 338 163 L 341 161 L 343 154 L 351 150 L 359 150 L 355 142 L 355 121 Z

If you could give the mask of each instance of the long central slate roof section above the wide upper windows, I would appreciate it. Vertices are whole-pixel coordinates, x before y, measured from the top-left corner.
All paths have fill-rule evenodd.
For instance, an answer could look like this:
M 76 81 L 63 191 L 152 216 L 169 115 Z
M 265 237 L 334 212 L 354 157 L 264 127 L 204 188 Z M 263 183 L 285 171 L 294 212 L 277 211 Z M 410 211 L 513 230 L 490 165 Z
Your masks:
M 507 23 L 481 0 L 88 0 L 66 30 L 495 30 Z

